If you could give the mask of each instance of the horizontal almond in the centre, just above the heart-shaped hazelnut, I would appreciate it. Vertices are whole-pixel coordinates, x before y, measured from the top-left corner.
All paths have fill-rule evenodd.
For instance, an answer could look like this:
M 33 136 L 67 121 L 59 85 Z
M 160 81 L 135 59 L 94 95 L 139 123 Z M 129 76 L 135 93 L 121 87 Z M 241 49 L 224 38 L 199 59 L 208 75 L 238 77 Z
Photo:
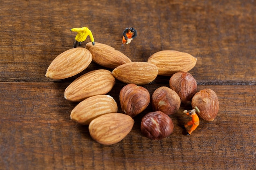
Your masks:
M 115 78 L 126 84 L 144 85 L 157 77 L 157 66 L 148 62 L 130 62 L 112 71 Z

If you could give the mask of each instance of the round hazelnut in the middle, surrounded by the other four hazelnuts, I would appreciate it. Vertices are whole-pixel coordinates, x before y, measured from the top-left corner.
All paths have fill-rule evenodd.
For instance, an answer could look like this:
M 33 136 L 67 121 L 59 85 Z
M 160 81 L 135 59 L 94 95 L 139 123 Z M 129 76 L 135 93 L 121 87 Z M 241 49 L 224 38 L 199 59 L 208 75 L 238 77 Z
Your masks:
M 180 108 L 180 97 L 171 88 L 162 86 L 152 94 L 152 106 L 154 111 L 172 115 Z

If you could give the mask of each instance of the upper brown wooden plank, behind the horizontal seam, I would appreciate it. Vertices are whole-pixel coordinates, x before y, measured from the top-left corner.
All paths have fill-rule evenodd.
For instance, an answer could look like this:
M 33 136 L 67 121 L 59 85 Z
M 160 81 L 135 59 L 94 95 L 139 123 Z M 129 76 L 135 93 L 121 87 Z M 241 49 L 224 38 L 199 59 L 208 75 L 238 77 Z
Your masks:
M 190 53 L 198 58 L 190 72 L 201 84 L 256 82 L 256 5 L 251 0 L 2 4 L 1 82 L 52 82 L 45 77 L 47 67 L 72 48 L 76 34 L 70 28 L 81 26 L 92 30 L 96 42 L 115 47 L 134 62 L 146 62 L 161 50 Z M 78 12 L 81 7 L 86 8 Z M 121 33 L 127 26 L 134 26 L 138 36 L 121 47 Z M 87 42 L 89 38 L 83 46 Z M 92 64 L 85 72 L 97 68 Z

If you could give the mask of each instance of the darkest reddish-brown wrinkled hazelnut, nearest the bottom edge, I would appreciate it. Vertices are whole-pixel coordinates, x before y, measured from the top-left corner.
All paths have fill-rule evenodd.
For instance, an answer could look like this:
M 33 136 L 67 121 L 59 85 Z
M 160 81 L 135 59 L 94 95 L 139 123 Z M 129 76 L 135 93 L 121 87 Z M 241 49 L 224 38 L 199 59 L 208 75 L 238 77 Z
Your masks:
M 173 121 L 161 111 L 150 112 L 142 118 L 140 128 L 149 139 L 163 139 L 173 132 Z

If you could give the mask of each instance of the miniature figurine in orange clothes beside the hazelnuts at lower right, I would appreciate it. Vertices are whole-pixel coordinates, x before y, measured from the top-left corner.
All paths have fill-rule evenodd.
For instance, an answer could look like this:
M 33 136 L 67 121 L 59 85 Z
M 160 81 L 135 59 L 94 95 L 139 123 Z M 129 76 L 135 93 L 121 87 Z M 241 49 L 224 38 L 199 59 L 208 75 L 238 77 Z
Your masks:
M 198 125 L 200 123 L 199 122 L 199 117 L 195 112 L 200 113 L 200 110 L 196 106 L 192 110 L 184 110 L 184 112 L 183 112 L 186 115 L 192 117 L 192 120 L 184 125 L 184 128 L 187 128 L 188 126 L 192 125 L 191 129 L 187 132 L 186 135 L 191 135 L 191 133 L 198 127 Z

